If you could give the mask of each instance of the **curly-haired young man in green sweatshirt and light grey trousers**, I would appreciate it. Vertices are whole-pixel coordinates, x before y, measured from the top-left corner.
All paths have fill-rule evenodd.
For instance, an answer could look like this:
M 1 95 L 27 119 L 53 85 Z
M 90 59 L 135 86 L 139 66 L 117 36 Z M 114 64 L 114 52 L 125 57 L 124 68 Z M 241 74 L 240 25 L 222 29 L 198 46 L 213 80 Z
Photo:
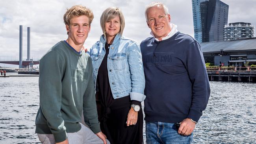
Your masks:
M 81 52 L 93 13 L 73 6 L 63 18 L 67 40 L 55 44 L 40 60 L 35 132 L 44 144 L 106 144 L 98 122 L 92 62 Z M 82 111 L 90 129 L 80 123 Z

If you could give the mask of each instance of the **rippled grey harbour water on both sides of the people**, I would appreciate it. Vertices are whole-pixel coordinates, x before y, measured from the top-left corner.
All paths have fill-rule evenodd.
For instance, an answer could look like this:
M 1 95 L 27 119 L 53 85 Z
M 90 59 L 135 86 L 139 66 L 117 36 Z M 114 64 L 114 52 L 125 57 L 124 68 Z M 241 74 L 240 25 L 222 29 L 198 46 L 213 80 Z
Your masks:
M 256 144 L 256 83 L 211 81 L 210 86 L 193 143 Z M 0 144 L 39 143 L 34 122 L 38 107 L 38 77 L 0 78 Z

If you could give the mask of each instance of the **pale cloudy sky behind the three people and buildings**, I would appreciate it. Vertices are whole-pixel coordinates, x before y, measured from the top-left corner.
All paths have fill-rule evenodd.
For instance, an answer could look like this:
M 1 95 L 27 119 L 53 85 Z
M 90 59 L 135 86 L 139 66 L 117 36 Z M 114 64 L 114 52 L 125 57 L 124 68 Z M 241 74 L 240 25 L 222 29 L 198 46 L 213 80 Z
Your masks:
M 221 0 L 229 5 L 228 23 L 250 22 L 256 26 L 256 0 Z M 19 60 L 19 25 L 23 25 L 23 60 L 27 58 L 27 27 L 30 27 L 30 58 L 39 60 L 54 44 L 67 39 L 63 15 L 74 5 L 89 7 L 94 13 L 91 32 L 84 46 L 90 48 L 100 39 L 100 16 L 112 6 L 119 7 L 125 18 L 126 37 L 138 43 L 150 37 L 145 6 L 151 0 L 0 0 L 0 61 Z M 191 0 L 158 0 L 171 15 L 178 31 L 194 37 Z M 6 66 L 6 64 L 0 64 Z M 17 67 L 13 65 L 13 67 Z

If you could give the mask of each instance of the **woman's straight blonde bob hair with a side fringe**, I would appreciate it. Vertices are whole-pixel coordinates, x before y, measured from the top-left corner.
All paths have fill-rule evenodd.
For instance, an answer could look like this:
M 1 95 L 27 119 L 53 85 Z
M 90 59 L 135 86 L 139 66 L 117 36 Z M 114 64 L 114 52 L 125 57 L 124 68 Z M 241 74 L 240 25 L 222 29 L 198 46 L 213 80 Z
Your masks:
M 102 29 L 102 32 L 104 36 L 106 36 L 106 31 L 105 31 L 105 23 L 108 22 L 109 20 L 113 19 L 115 16 L 120 17 L 120 31 L 119 33 L 122 35 L 122 32 L 124 31 L 124 15 L 122 14 L 121 9 L 118 7 L 109 7 L 105 11 L 103 11 L 102 15 L 100 16 L 100 27 Z

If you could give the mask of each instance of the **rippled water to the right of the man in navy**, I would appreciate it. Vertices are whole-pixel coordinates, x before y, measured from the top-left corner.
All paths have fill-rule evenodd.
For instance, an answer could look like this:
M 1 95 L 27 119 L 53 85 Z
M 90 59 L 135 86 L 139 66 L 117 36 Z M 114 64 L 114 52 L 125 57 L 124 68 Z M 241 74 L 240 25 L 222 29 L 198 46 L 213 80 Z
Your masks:
M 209 103 L 195 128 L 193 143 L 255 143 L 256 84 L 212 81 L 210 87 Z

